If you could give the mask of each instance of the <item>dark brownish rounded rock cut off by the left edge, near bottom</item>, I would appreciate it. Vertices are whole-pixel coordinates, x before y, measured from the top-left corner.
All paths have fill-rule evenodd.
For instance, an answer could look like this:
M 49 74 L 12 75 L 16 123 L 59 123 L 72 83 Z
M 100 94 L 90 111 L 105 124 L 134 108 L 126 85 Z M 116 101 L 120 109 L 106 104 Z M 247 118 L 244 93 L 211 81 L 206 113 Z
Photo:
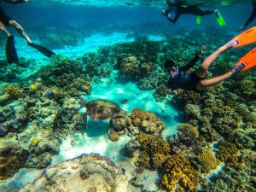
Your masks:
M 0 180 L 12 177 L 25 166 L 27 155 L 15 138 L 0 138 Z

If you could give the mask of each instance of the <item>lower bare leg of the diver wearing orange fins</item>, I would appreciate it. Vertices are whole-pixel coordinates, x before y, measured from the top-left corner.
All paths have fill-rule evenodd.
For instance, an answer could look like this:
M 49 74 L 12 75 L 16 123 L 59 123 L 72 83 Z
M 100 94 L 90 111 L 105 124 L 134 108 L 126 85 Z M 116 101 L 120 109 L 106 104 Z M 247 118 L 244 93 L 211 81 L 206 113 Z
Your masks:
M 223 75 L 220 75 L 218 77 L 212 78 L 212 79 L 204 79 L 201 80 L 197 85 L 196 88 L 198 90 L 205 90 L 207 87 L 212 86 L 214 84 L 218 84 L 222 82 L 224 79 L 228 79 L 233 75 L 232 72 L 224 73 Z

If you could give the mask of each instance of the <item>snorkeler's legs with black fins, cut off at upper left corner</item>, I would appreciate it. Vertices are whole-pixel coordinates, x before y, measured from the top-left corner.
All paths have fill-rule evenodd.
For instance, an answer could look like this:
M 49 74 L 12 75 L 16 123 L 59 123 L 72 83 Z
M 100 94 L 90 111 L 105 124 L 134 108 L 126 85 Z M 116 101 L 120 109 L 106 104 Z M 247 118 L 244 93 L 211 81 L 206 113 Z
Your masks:
M 0 3 L 2 2 L 6 3 L 26 3 L 28 0 L 0 0 Z M 15 50 L 15 44 L 14 44 L 14 36 L 7 30 L 6 26 L 13 26 L 15 29 L 20 33 L 20 35 L 26 39 L 26 42 L 28 45 L 32 46 L 34 49 L 38 49 L 39 52 L 42 54 L 50 57 L 51 55 L 55 55 L 54 52 L 52 52 L 49 49 L 44 48 L 41 45 L 32 43 L 32 40 L 28 37 L 26 32 L 24 31 L 23 27 L 20 26 L 20 24 L 13 20 L 11 17 L 6 15 L 3 11 L 2 4 L 0 4 L 0 30 L 6 34 L 7 37 L 7 44 L 6 44 L 6 54 L 7 59 L 9 62 L 19 62 L 18 56 L 16 54 Z

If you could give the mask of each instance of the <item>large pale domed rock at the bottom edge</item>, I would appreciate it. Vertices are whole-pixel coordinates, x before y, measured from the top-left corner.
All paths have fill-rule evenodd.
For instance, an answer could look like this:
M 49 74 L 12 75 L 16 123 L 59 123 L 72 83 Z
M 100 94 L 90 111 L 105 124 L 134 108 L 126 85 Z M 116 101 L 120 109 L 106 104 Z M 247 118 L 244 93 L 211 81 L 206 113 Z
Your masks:
M 126 191 L 128 181 L 113 162 L 99 154 L 83 154 L 47 168 L 42 176 L 28 183 L 25 191 Z

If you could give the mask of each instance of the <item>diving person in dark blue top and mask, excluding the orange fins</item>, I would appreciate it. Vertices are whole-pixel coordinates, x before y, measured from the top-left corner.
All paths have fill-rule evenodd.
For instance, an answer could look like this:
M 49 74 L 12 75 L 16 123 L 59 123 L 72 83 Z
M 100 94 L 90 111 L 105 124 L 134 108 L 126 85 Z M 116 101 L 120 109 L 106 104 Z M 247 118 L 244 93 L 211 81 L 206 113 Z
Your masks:
M 167 59 L 165 62 L 165 68 L 166 72 L 170 74 L 170 79 L 167 84 L 168 88 L 172 89 L 174 95 L 177 95 L 177 89 L 194 90 L 196 92 L 200 92 L 205 90 L 209 86 L 218 84 L 224 79 L 228 79 L 232 75 L 241 72 L 241 70 L 245 68 L 245 65 L 243 63 L 237 65 L 228 73 L 224 73 L 223 75 L 214 77 L 212 79 L 206 79 L 208 67 L 210 67 L 213 61 L 218 58 L 218 55 L 223 53 L 225 50 L 236 46 L 236 44 L 237 41 L 232 40 L 229 43 L 221 46 L 218 50 L 212 53 L 212 55 L 209 55 L 207 59 L 202 62 L 201 66 L 193 73 L 186 72 L 190 68 L 195 66 L 196 61 L 199 60 L 199 58 L 203 54 L 203 51 L 206 49 L 205 46 L 202 46 L 200 49 L 200 53 L 198 55 L 195 55 L 194 59 L 184 67 L 177 67 L 172 59 Z

